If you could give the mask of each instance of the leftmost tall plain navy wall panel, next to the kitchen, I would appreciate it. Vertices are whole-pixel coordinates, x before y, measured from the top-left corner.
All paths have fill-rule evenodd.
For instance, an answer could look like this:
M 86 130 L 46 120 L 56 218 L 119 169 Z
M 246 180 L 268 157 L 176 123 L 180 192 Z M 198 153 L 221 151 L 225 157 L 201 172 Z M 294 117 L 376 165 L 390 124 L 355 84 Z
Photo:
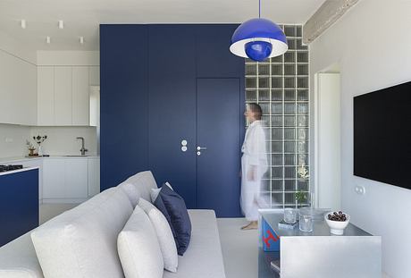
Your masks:
M 101 190 L 148 169 L 148 28 L 100 26 Z

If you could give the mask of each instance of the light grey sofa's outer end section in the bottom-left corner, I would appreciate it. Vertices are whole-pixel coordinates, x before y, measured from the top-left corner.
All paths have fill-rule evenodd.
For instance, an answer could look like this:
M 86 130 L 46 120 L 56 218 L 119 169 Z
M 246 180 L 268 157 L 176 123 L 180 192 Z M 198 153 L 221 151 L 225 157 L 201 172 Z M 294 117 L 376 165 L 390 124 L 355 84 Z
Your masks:
M 44 278 L 30 232 L 0 249 L 0 278 Z

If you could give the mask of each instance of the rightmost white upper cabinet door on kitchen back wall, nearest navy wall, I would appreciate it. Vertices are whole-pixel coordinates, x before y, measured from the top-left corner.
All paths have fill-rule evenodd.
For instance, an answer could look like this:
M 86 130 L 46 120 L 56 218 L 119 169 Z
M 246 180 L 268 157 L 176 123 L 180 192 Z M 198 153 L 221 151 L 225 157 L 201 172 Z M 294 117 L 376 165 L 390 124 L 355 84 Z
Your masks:
M 72 67 L 72 125 L 89 125 L 88 67 Z

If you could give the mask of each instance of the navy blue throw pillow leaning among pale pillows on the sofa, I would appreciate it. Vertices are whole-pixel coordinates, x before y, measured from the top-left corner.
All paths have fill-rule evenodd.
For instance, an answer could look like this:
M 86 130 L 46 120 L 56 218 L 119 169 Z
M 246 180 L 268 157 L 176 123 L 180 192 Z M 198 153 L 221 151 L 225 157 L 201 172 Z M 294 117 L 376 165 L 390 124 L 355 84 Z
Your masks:
M 191 221 L 189 220 L 186 203 L 179 194 L 171 190 L 168 186 L 162 187 L 160 194 L 155 199 L 155 203 L 157 203 L 157 199 L 162 200 L 170 216 L 170 226 L 172 226 L 176 236 L 174 240 L 176 240 L 177 253 L 182 256 L 189 248 L 189 240 L 191 238 Z M 161 211 L 160 208 L 158 209 Z M 165 217 L 167 218 L 167 216 Z

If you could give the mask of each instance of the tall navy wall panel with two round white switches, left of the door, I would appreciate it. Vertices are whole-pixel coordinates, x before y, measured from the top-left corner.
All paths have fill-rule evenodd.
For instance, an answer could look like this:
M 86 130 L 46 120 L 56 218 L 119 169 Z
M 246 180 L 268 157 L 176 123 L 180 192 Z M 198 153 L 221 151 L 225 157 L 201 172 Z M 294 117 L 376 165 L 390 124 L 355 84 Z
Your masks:
M 193 25 L 149 26 L 149 168 L 189 207 L 196 207 L 195 36 Z

